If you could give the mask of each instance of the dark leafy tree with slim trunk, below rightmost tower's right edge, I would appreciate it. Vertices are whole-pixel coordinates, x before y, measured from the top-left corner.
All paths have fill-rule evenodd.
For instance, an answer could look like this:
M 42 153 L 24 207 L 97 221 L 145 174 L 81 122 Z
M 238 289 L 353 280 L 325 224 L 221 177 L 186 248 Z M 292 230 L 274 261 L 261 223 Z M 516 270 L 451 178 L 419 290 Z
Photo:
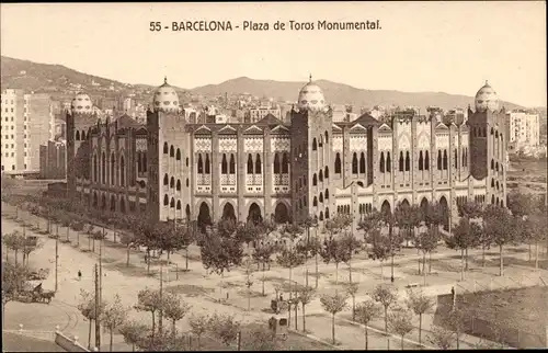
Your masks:
M 489 205 L 484 210 L 484 231 L 492 239 L 492 242 L 499 247 L 500 271 L 499 275 L 504 275 L 503 247 L 514 243 L 517 239 L 517 221 L 509 212 L 496 205 Z

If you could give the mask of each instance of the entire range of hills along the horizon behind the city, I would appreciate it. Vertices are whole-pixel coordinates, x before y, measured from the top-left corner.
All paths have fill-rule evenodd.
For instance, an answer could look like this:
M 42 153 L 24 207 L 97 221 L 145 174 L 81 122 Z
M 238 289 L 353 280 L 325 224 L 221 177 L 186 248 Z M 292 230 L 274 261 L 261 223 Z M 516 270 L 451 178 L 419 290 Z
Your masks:
M 35 92 L 64 92 L 69 90 L 69 84 L 81 84 L 82 89 L 90 94 L 95 93 L 135 93 L 144 92 L 150 94 L 151 86 L 147 84 L 125 84 L 115 80 L 101 78 L 83 72 L 79 72 L 61 65 L 37 64 L 27 60 L 20 60 L 1 57 L 1 88 L 21 88 Z M 96 82 L 100 87 L 93 87 Z M 456 106 L 466 107 L 473 102 L 472 96 L 447 94 L 443 92 L 400 92 L 389 90 L 364 90 L 347 84 L 336 83 L 327 80 L 319 80 L 317 83 L 323 89 L 328 102 L 336 104 L 354 104 L 357 106 L 372 105 L 413 105 L 422 110 L 429 105 L 436 105 L 445 109 Z M 281 101 L 295 101 L 304 82 L 282 82 L 273 80 L 253 80 L 247 77 L 231 79 L 219 84 L 207 84 L 189 90 L 194 94 L 205 96 L 224 95 L 225 93 L 251 93 L 256 96 L 272 96 Z M 113 86 L 113 91 L 106 88 Z M 184 91 L 175 88 L 180 94 Z M 115 94 L 118 94 L 115 93 Z M 186 94 L 181 95 L 189 98 Z M 506 109 L 521 107 L 517 104 L 504 102 Z

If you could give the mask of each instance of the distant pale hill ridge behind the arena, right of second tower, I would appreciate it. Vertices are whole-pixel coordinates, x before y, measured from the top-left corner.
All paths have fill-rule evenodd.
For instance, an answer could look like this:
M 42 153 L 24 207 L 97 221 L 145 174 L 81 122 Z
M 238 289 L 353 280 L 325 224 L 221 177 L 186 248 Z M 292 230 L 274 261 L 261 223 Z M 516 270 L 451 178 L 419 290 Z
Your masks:
M 347 84 L 327 80 L 316 81 L 320 86 L 329 102 L 339 104 L 354 104 L 356 106 L 370 105 L 413 105 L 426 107 L 436 105 L 445 109 L 456 106 L 466 107 L 473 102 L 473 96 L 448 94 L 444 92 L 400 92 L 391 90 L 363 90 Z M 207 84 L 192 90 L 204 95 L 219 95 L 225 92 L 248 92 L 256 96 L 272 96 L 282 101 L 295 101 L 304 82 L 279 82 L 272 80 L 253 80 L 247 77 L 228 80 L 219 84 Z M 503 102 L 506 109 L 518 109 L 521 105 Z

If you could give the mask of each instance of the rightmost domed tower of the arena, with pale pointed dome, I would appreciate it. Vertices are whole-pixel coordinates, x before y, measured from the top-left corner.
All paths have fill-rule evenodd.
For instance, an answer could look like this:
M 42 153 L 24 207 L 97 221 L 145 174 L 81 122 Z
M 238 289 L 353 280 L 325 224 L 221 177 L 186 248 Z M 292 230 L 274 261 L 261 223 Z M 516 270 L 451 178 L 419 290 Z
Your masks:
M 470 129 L 470 173 L 486 180 L 486 202 L 505 204 L 506 136 L 505 112 L 499 107 L 499 96 L 486 81 L 475 99 L 475 111 L 468 111 Z

